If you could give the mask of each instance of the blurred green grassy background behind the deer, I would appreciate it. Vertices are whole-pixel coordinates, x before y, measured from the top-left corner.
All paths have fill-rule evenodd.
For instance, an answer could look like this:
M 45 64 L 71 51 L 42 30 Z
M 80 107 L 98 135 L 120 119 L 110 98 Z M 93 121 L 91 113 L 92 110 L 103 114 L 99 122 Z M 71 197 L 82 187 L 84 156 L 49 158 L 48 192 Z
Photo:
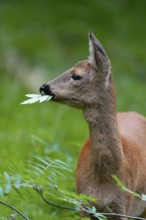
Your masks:
M 33 155 L 61 159 L 75 170 L 88 137 L 82 113 L 54 103 L 19 103 L 87 58 L 89 30 L 111 60 L 117 111 L 146 115 L 145 11 L 144 0 L 0 0 L 1 172 L 23 172 Z M 74 175 L 62 180 L 62 187 L 74 190 Z M 24 194 L 5 201 L 31 220 L 70 219 L 70 213 L 49 208 L 35 192 Z M 0 206 L 0 219 L 10 214 Z

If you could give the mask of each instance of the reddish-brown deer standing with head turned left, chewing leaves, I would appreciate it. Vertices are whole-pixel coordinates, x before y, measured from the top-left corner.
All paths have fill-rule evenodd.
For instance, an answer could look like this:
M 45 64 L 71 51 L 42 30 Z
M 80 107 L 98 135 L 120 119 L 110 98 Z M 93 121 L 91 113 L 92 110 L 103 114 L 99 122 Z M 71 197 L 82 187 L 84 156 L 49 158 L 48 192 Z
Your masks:
M 83 110 L 89 125 L 89 140 L 76 169 L 77 193 L 97 198 L 98 211 L 139 216 L 146 203 L 123 192 L 112 174 L 128 189 L 146 194 L 146 118 L 134 112 L 116 113 L 108 56 L 93 33 L 89 33 L 89 46 L 89 59 L 42 85 L 40 92 Z

